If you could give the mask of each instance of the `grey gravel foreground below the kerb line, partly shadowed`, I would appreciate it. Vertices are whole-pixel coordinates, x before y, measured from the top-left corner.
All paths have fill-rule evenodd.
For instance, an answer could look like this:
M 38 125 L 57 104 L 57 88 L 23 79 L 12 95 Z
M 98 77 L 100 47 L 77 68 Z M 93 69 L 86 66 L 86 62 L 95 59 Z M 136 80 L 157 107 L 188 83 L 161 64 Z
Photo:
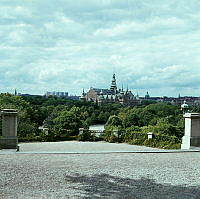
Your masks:
M 200 153 L 1 154 L 0 198 L 200 198 Z

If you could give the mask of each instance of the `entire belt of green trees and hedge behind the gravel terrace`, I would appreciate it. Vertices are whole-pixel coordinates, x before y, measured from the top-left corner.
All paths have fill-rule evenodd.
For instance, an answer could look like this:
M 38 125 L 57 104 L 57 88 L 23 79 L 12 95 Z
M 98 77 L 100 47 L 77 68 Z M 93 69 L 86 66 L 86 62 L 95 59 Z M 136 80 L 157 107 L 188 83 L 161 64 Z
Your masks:
M 43 96 L 0 95 L 0 108 L 17 109 L 18 136 L 25 140 L 69 140 L 77 138 L 79 128 L 88 129 L 91 124 L 106 124 L 102 139 L 110 142 L 122 141 L 131 144 L 146 144 L 163 147 L 180 144 L 184 132 L 184 121 L 180 107 L 152 101 L 138 107 L 122 107 L 121 104 L 105 104 L 75 101 L 66 98 Z M 200 110 L 195 107 L 195 110 Z M 39 126 L 49 129 L 48 136 Z M 113 130 L 118 130 L 118 136 Z M 147 140 L 147 132 L 155 139 Z M 94 140 L 89 132 L 79 140 Z M 158 145 L 158 143 L 160 145 Z

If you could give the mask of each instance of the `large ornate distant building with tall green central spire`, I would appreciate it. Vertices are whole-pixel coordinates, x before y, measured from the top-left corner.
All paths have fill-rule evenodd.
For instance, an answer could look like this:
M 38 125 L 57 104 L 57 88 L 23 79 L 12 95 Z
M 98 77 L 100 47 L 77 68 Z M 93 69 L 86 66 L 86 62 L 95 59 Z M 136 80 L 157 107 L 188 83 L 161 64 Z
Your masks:
M 83 90 L 80 100 L 91 101 L 102 105 L 105 103 L 121 103 L 124 106 L 136 106 L 140 104 L 139 95 L 134 96 L 133 93 L 127 88 L 117 89 L 117 83 L 115 74 L 113 74 L 110 89 L 100 89 L 100 88 L 90 88 L 90 90 L 85 93 Z

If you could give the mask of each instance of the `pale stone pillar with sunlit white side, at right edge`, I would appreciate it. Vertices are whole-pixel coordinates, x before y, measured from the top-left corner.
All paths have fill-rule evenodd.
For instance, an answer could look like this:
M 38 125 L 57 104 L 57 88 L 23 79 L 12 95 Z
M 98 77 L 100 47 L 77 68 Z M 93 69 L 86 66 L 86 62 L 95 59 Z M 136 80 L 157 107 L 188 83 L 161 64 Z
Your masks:
M 186 113 L 185 135 L 182 138 L 181 149 L 200 147 L 200 113 Z

